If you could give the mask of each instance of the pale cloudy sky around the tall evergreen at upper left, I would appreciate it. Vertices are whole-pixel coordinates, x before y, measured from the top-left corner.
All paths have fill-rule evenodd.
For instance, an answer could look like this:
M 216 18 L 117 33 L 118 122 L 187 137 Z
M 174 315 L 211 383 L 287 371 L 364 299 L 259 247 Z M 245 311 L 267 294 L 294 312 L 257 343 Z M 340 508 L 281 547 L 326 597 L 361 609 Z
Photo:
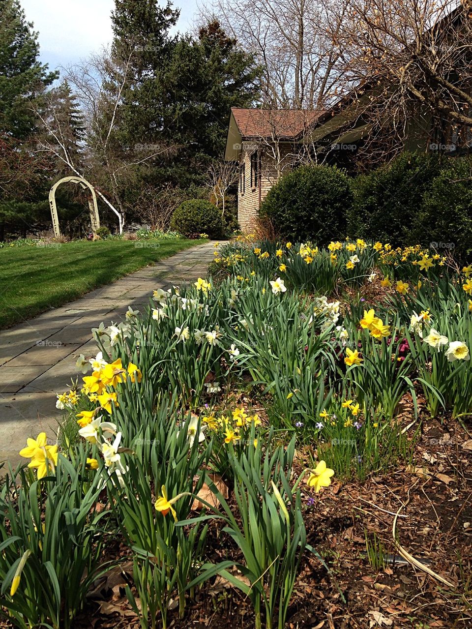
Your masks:
M 114 0 L 20 0 L 26 19 L 39 32 L 41 62 L 50 69 L 74 64 L 111 42 Z M 197 0 L 175 0 L 177 29 L 192 25 Z

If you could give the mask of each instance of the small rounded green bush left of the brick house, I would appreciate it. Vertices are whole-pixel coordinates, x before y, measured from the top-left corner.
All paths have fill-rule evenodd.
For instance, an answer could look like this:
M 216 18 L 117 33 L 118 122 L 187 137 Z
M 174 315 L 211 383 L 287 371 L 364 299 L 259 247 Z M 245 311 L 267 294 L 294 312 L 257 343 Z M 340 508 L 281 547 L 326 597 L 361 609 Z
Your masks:
M 219 238 L 223 230 L 221 211 L 210 201 L 190 199 L 175 210 L 170 228 L 187 237 L 206 233 L 210 238 Z

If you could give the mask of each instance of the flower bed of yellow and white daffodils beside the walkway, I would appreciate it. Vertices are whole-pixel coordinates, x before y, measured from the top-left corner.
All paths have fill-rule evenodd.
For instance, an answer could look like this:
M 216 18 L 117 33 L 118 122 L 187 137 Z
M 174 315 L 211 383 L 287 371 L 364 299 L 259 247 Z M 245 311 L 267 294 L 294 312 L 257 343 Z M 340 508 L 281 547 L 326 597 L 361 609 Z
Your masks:
M 466 429 L 472 267 L 421 247 L 240 238 L 217 248 L 211 272 L 94 328 L 99 352 L 79 358 L 81 381 L 58 394 L 57 440 L 41 433 L 21 450 L 30 463 L 18 486 L 11 470 L 0 503 L 14 625 L 72 626 L 99 577 L 125 561 L 121 603 L 143 629 L 187 626 L 199 601 L 228 588 L 241 598 L 212 599 L 227 623 L 214 626 L 241 604 L 247 626 L 295 626 L 314 571 L 338 591 L 332 609 L 349 610 L 322 541 L 329 526 L 318 530 L 310 509 L 395 470 L 427 481 L 415 464 L 422 435 L 446 421 Z M 393 574 L 370 531 L 366 562 Z

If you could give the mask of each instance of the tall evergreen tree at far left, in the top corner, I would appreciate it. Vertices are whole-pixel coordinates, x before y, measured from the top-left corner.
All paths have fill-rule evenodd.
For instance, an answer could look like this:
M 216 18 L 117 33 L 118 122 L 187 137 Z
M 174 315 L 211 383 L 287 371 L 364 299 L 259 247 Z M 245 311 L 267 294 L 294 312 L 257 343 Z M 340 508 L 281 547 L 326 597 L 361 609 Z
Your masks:
M 35 130 L 31 104 L 57 78 L 38 55 L 37 33 L 19 1 L 0 0 L 0 133 L 23 139 Z

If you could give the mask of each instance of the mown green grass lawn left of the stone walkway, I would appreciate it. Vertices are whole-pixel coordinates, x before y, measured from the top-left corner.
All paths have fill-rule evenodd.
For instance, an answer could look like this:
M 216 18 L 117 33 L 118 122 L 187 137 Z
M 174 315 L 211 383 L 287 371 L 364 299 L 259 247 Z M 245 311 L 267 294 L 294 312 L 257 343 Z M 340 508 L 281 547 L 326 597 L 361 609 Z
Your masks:
M 77 241 L 0 249 L 0 329 L 78 298 L 98 286 L 194 247 L 195 240 Z M 150 247 L 158 243 L 159 247 Z

